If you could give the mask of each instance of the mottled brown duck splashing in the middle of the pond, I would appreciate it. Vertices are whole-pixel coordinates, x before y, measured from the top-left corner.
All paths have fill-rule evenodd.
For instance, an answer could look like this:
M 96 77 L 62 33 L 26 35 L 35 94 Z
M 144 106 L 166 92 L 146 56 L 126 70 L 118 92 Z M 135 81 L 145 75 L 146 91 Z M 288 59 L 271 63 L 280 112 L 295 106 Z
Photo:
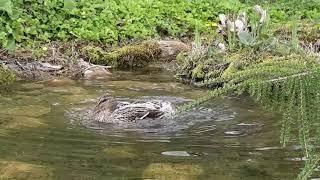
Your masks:
M 123 102 L 113 97 L 103 96 L 93 108 L 93 119 L 103 123 L 134 122 L 142 119 L 157 119 L 172 114 L 174 108 L 170 102 Z

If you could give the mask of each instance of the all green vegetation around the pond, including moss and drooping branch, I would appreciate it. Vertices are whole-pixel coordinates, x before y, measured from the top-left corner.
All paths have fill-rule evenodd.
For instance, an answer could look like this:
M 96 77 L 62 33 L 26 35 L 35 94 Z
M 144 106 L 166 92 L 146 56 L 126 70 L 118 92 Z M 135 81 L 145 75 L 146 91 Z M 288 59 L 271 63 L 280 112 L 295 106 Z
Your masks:
M 257 7 L 256 15 L 256 3 L 268 16 Z M 242 10 L 250 17 L 248 24 L 242 21 L 245 30 L 218 27 L 219 14 L 230 14 L 235 26 Z M 319 164 L 320 59 L 305 46 L 320 39 L 319 0 L 0 0 L 0 12 L 1 47 L 37 50 L 34 57 L 48 53 L 53 41 L 77 41 L 85 42 L 80 53 L 91 62 L 129 68 L 141 65 L 133 59 L 142 64 L 152 59 L 158 47 L 146 43 L 106 49 L 145 39 L 194 38 L 193 50 L 178 58 L 177 78 L 212 91 L 181 109 L 217 96 L 249 94 L 283 114 L 283 146 L 298 134 L 307 159 L 299 179 L 309 178 Z M 1 86 L 14 78 L 0 67 Z

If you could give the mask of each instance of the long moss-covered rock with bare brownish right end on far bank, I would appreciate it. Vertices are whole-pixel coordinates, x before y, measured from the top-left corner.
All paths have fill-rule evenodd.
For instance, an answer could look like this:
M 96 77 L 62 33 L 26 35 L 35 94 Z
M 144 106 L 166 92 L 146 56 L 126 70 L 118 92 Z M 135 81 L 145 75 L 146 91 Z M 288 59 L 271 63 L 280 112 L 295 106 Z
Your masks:
M 179 41 L 147 41 L 108 52 L 101 47 L 86 46 L 81 52 L 94 64 L 128 69 L 146 67 L 152 61 L 172 61 L 190 47 Z

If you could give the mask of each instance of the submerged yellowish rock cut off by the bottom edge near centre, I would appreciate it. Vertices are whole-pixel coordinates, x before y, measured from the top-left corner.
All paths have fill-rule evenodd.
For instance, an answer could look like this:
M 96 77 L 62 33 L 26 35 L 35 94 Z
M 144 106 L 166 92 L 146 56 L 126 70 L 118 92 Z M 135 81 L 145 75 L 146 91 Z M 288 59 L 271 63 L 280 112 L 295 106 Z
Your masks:
M 203 174 L 199 165 L 154 163 L 150 164 L 143 172 L 144 179 L 160 180 L 196 180 Z

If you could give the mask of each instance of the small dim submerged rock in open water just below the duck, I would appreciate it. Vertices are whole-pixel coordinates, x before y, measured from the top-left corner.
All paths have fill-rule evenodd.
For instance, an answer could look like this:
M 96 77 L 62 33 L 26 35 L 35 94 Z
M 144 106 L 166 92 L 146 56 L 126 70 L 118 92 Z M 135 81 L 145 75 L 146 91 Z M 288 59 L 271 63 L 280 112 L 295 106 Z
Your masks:
M 107 159 L 134 159 L 137 158 L 137 152 L 130 146 L 108 147 L 103 150 Z

